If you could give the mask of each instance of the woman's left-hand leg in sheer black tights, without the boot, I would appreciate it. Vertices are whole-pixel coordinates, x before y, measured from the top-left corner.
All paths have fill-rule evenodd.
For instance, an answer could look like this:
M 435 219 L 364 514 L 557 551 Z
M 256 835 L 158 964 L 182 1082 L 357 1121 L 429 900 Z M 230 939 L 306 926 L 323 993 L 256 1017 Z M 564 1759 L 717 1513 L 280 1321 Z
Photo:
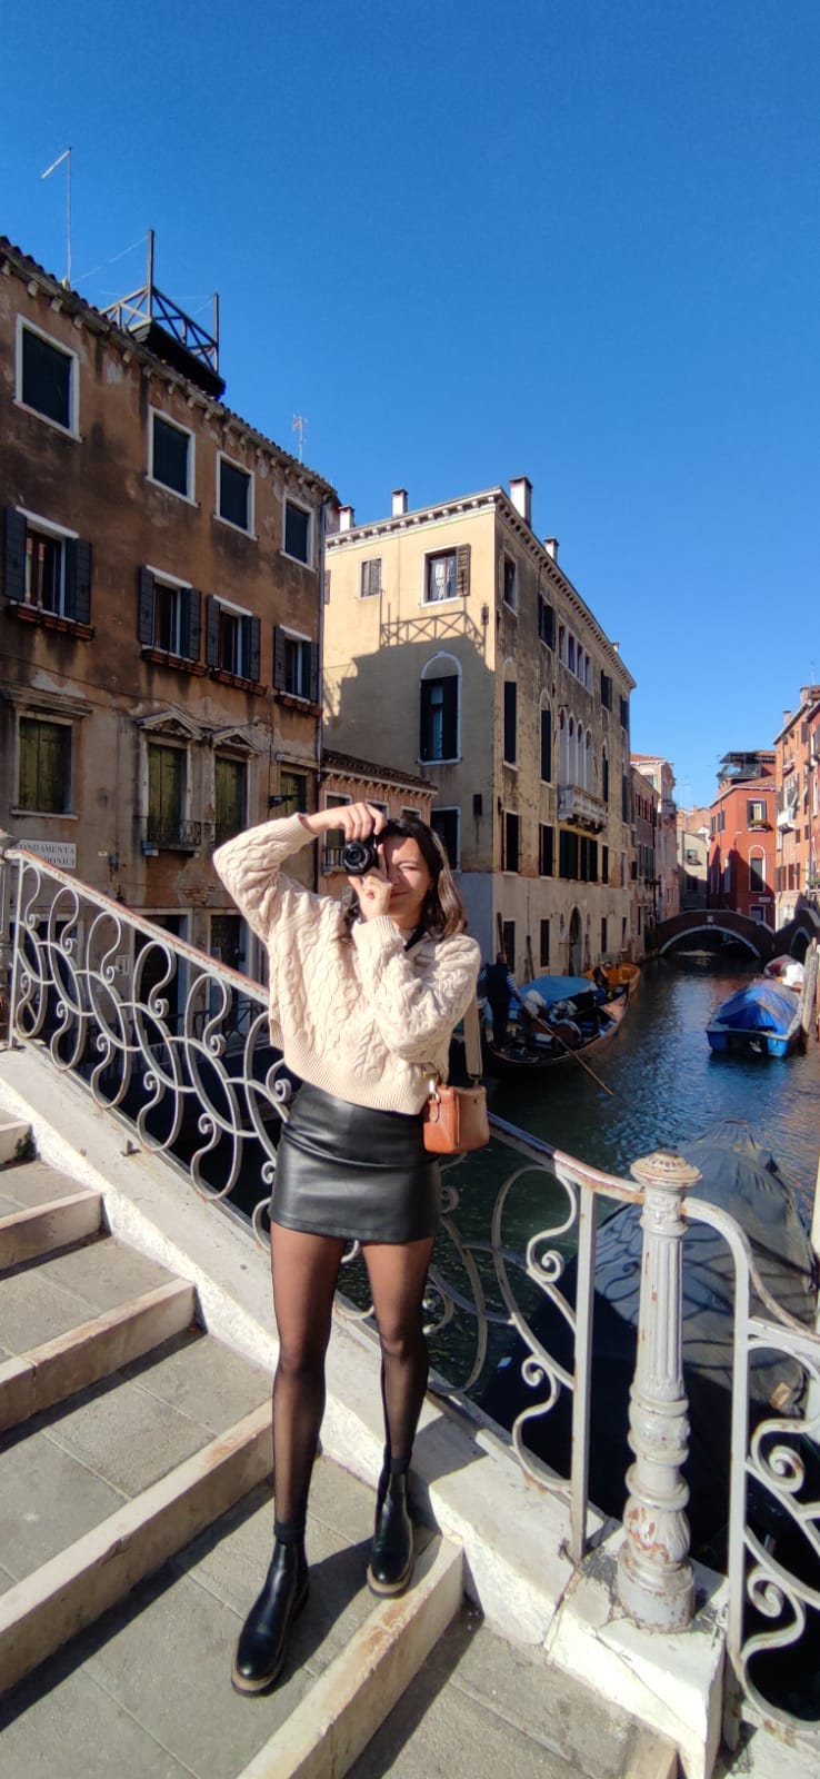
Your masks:
M 270 1226 L 270 1276 L 279 1334 L 274 1379 L 276 1519 L 302 1525 L 322 1425 L 324 1361 L 333 1297 L 347 1244 L 336 1236 Z

